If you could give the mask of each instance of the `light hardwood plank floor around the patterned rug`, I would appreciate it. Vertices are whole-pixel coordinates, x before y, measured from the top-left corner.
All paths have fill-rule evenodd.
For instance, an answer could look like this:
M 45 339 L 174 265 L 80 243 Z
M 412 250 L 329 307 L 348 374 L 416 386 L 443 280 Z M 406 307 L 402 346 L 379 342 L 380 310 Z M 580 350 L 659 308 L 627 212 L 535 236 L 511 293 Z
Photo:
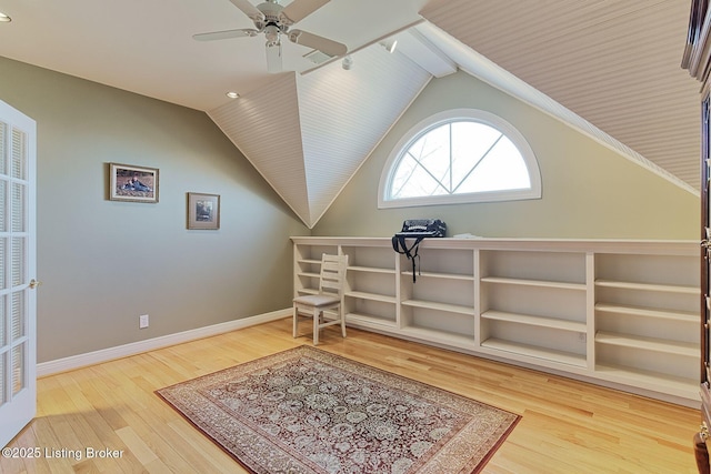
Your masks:
M 242 473 L 153 391 L 304 343 L 289 319 L 43 377 L 9 445 L 40 456 L 0 457 L 0 472 Z M 485 473 L 697 472 L 697 410 L 352 329 L 319 349 L 522 415 Z

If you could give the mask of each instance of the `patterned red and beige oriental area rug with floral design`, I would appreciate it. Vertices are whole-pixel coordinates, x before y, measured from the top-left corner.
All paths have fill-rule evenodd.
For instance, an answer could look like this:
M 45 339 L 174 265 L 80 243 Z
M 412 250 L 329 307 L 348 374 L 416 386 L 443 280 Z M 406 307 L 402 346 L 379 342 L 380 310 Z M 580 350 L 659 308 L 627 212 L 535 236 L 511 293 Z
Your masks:
M 519 421 L 307 345 L 157 393 L 258 474 L 474 473 Z

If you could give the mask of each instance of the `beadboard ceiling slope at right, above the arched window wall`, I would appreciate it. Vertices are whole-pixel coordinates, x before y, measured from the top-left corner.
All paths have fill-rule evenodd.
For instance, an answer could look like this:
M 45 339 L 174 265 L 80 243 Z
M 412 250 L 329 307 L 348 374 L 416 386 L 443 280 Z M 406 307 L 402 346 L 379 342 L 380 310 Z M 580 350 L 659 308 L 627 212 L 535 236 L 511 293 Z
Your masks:
M 698 190 L 690 1 L 432 0 L 420 14 Z

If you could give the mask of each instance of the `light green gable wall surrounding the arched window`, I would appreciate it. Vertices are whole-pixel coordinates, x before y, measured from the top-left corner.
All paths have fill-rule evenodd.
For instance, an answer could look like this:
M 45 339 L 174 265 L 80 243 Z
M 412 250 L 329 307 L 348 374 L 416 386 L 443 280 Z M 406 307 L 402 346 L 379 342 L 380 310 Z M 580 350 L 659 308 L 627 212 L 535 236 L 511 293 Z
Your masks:
M 528 139 L 540 200 L 378 209 L 383 165 L 419 121 L 454 108 L 498 114 Z M 390 236 L 404 219 L 440 218 L 448 234 L 491 238 L 698 239 L 699 198 L 560 121 L 459 72 L 434 79 L 313 229 L 313 235 Z

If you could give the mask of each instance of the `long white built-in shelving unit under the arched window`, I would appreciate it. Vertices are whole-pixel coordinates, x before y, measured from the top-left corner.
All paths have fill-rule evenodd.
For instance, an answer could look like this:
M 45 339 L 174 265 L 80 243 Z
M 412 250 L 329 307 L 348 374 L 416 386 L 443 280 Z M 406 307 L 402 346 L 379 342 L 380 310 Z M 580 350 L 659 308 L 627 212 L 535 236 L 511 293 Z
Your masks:
M 293 238 L 294 293 L 321 253 L 349 255 L 349 325 L 698 401 L 698 245 L 680 241 L 430 239 L 411 262 L 390 239 Z

